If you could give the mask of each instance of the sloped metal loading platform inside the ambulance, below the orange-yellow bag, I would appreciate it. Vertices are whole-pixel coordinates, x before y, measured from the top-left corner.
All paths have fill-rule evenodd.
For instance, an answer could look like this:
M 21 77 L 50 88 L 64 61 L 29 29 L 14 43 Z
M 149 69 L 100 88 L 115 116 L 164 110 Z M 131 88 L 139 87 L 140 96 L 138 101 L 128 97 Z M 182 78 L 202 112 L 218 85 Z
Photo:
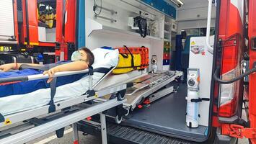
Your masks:
M 175 79 L 180 78 L 180 76 L 182 76 L 181 71 L 165 71 L 163 73 L 148 73 L 146 76 L 137 78 L 132 81 L 133 86 L 126 89 L 125 97 L 127 102 L 123 105 L 133 111 L 145 99 L 149 99 L 149 102 L 154 102 L 174 92 L 173 86 L 162 88 L 175 81 Z

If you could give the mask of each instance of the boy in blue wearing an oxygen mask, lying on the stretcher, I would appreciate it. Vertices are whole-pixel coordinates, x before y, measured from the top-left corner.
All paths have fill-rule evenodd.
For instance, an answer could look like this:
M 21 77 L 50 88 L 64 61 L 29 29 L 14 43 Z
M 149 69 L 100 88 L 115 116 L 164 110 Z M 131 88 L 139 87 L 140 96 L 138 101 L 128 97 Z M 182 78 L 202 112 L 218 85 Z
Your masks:
M 39 65 L 32 63 L 9 63 L 1 65 L 0 70 L 2 71 L 0 72 L 0 78 L 28 76 L 42 73 L 48 74 L 50 78 L 48 78 L 48 81 L 35 80 L 16 84 L 0 84 L 0 91 L 4 91 L 3 93 L 0 93 L 0 97 L 14 94 L 26 94 L 37 89 L 49 88 L 50 85 L 48 83 L 53 80 L 55 73 L 61 71 L 81 71 L 87 69 L 89 66 L 92 66 L 93 63 L 94 55 L 91 50 L 88 48 L 81 48 L 72 54 L 71 61 L 61 61 L 50 65 Z M 85 73 L 58 77 L 56 86 L 77 81 L 84 75 Z

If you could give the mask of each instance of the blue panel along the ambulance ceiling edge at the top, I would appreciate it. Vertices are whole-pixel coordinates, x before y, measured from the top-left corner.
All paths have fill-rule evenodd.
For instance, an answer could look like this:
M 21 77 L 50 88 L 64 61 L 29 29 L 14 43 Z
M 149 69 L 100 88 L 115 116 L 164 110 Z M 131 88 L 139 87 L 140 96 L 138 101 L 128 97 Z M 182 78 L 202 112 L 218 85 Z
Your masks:
M 164 0 L 141 0 L 146 4 L 149 4 L 150 6 L 154 7 L 155 9 L 158 9 L 159 11 L 163 12 L 164 14 L 167 14 L 168 16 L 176 19 L 176 8 L 175 6 L 172 6 L 168 4 Z

